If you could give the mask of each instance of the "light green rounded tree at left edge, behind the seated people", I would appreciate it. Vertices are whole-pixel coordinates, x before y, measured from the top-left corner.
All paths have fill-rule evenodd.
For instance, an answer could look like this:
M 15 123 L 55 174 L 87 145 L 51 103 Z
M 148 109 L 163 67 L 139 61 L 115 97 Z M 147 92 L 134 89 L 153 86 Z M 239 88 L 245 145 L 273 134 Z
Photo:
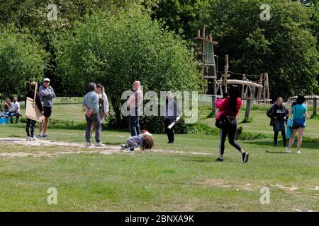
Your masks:
M 41 81 L 46 54 L 28 30 L 0 26 L 0 93 L 24 95 L 31 81 Z

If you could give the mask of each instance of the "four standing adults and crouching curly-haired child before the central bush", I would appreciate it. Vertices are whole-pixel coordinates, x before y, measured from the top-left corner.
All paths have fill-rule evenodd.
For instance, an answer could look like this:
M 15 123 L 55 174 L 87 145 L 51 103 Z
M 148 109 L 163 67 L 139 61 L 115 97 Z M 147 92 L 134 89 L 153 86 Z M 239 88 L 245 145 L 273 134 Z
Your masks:
M 143 100 L 143 94 L 141 90 L 140 81 L 135 81 L 133 83 L 133 95 L 128 97 L 128 107 L 130 115 L 128 117 L 128 124 L 130 129 L 130 138 L 128 138 L 127 143 L 121 145 L 122 150 L 133 151 L 134 148 L 140 147 L 141 150 L 150 150 L 155 147 L 154 138 L 151 133 L 147 130 L 140 129 L 140 106 Z M 108 114 L 108 99 L 103 91 L 103 86 L 101 84 L 89 83 L 89 93 L 86 93 L 82 106 L 85 111 L 86 117 L 86 146 L 90 147 L 91 143 L 91 125 L 94 124 L 95 131 L 95 141 L 94 146 L 101 147 L 104 146 L 101 143 L 101 121 Z M 168 143 L 174 143 L 174 128 L 169 128 L 169 125 L 177 123 L 178 117 L 181 116 L 181 110 L 177 105 L 177 101 L 174 100 L 173 93 L 167 92 L 167 99 L 164 109 L 164 125 L 166 128 Z

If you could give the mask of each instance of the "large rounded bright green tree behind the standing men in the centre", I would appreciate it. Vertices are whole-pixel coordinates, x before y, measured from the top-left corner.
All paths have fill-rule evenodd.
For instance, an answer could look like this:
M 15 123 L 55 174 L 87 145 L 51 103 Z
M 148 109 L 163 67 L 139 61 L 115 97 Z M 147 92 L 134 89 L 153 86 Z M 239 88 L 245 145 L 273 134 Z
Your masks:
M 97 13 L 77 23 L 57 47 L 64 84 L 84 94 L 89 82 L 100 82 L 121 124 L 121 94 L 133 81 L 144 92 L 198 90 L 199 75 L 185 42 L 142 13 Z

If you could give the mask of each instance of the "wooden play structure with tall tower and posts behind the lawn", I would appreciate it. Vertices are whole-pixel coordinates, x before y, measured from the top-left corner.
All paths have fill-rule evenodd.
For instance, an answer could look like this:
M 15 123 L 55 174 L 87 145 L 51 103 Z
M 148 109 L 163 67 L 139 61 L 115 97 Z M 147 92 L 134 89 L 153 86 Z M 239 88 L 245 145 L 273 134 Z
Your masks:
M 201 59 L 201 75 L 203 79 L 208 79 L 208 81 L 213 82 L 213 95 L 227 92 L 228 84 L 236 84 L 241 87 L 241 97 L 242 99 L 256 99 L 258 101 L 270 102 L 269 94 L 269 78 L 268 73 L 261 73 L 260 75 L 247 75 L 241 73 L 235 73 L 229 71 L 229 59 L 228 55 L 225 56 L 225 66 L 224 71 L 218 71 L 217 64 L 214 54 L 213 46 L 218 44 L 218 42 L 213 41 L 213 36 L 205 34 L 206 25 L 203 26 L 203 30 L 197 31 L 198 40 L 198 58 Z M 218 79 L 218 73 L 220 73 Z M 230 78 L 231 75 L 240 76 L 241 79 Z M 250 78 L 255 78 L 257 80 L 252 80 Z

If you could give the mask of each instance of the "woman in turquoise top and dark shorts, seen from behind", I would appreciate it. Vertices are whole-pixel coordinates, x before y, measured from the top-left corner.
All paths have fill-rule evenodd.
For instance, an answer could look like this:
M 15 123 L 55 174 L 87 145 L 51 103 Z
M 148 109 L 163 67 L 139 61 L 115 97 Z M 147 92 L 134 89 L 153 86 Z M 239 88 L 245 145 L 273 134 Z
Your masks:
M 297 101 L 294 102 L 289 109 L 289 115 L 292 114 L 291 119 L 293 120 L 293 126 L 291 129 L 293 130 L 291 137 L 289 139 L 289 145 L 286 149 L 286 153 L 291 153 L 291 147 L 293 145 L 293 140 L 298 131 L 298 141 L 297 141 L 297 154 L 301 154 L 300 148 L 301 143 L 303 141 L 303 131 L 306 128 L 306 118 L 308 117 L 308 108 L 304 104 L 306 98 L 302 95 L 298 95 Z

